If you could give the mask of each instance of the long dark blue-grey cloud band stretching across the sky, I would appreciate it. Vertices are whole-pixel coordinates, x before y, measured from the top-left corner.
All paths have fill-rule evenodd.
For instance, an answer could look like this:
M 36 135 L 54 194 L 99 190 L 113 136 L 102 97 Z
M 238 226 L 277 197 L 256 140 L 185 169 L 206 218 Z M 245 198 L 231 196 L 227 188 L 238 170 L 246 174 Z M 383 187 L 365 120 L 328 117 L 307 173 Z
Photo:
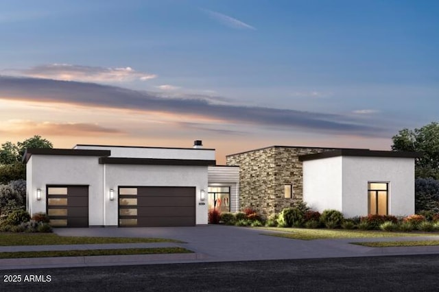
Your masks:
M 0 76 L 0 99 L 64 103 L 97 108 L 129 109 L 224 120 L 235 125 L 274 126 L 285 131 L 387 136 L 381 127 L 342 114 L 212 104 L 202 98 L 163 98 L 157 93 L 83 82 Z M 234 129 L 236 130 L 236 129 Z

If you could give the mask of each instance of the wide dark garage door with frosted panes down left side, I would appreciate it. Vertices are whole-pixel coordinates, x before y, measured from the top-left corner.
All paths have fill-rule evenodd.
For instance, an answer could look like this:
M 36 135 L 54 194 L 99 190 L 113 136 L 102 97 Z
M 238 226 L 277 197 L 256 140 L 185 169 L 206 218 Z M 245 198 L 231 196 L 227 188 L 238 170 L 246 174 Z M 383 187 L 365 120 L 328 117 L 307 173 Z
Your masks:
M 119 226 L 194 226 L 195 187 L 119 187 Z

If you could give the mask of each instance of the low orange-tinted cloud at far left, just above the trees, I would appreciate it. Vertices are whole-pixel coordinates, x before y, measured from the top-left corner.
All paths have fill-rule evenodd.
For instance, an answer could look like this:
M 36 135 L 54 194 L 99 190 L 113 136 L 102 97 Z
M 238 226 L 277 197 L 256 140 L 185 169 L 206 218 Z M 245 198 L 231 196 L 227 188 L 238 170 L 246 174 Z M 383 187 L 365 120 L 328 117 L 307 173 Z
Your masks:
M 8 120 L 3 122 L 1 132 L 14 134 L 39 133 L 49 136 L 94 136 L 97 134 L 123 134 L 122 131 L 102 127 L 96 123 L 55 123 L 29 120 Z

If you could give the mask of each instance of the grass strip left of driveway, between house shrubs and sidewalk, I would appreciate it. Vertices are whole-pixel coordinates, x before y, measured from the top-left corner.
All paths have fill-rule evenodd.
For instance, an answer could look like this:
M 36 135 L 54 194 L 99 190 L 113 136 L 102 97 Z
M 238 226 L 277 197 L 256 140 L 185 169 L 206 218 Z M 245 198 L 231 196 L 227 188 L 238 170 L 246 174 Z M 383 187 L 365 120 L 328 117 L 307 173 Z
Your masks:
M 99 243 L 182 243 L 174 239 L 59 236 L 53 233 L 10 233 L 0 232 L 0 246 L 14 245 L 66 245 Z

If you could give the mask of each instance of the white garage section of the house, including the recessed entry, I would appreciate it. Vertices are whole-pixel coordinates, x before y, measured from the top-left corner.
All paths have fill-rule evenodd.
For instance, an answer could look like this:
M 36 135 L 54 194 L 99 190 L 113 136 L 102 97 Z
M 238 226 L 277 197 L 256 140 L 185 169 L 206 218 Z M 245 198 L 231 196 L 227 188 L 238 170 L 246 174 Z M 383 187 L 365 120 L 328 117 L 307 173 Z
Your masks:
M 53 226 L 194 226 L 208 223 L 209 202 L 239 208 L 239 169 L 212 167 L 209 175 L 215 149 L 201 141 L 193 148 L 27 149 L 24 161 L 27 210 L 47 212 Z

